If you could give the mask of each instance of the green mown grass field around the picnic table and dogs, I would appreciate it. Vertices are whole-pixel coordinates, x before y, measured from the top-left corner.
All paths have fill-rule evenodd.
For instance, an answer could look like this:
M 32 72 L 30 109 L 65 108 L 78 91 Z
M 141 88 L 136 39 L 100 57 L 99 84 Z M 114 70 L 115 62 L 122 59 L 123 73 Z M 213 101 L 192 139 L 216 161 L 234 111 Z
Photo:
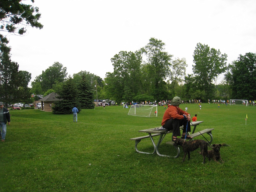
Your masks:
M 180 107 L 185 110 L 185 104 Z M 199 131 L 214 128 L 212 144 L 231 146 L 220 150 L 224 163 L 202 164 L 199 149 L 184 163 L 182 148 L 178 158 L 137 153 L 129 138 L 161 126 L 162 106 L 153 118 L 128 116 L 129 109 L 122 106 L 83 109 L 77 123 L 72 114 L 10 111 L 11 124 L 0 143 L 0 191 L 255 191 L 256 107 L 187 107 L 191 116 L 198 114 L 197 120 L 204 121 Z M 170 138 L 161 144 L 161 154 L 175 153 L 165 144 Z M 150 139 L 138 148 L 153 151 Z

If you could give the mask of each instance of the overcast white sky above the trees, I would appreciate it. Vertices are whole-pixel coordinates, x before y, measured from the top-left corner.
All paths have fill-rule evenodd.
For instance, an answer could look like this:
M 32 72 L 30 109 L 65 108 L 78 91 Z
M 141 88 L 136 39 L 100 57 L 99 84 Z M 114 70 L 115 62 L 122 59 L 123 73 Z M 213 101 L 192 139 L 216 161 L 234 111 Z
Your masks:
M 89 71 L 104 79 L 115 54 L 134 52 L 151 37 L 161 39 L 173 59 L 186 58 L 189 74 L 198 42 L 226 53 L 227 64 L 256 52 L 255 0 L 35 0 L 34 6 L 43 29 L 8 36 L 12 61 L 31 81 L 57 61 L 71 76 Z

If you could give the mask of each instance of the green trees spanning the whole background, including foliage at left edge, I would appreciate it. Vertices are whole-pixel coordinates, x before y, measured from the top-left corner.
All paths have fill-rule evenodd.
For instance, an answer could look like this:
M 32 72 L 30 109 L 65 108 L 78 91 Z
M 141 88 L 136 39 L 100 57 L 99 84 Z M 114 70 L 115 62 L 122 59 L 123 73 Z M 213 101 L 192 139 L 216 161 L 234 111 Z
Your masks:
M 38 22 L 41 14 L 37 7 L 21 0 L 3 0 L 0 12 L 0 31 L 5 33 L 0 34 L 0 99 L 5 104 L 31 103 L 34 100 L 31 94 L 46 96 L 51 92 L 58 93 L 62 102 L 56 103 L 55 113 L 70 110 L 75 103 L 80 109 L 92 108 L 97 96 L 117 103 L 160 101 L 174 96 L 203 102 L 217 98 L 255 99 L 255 53 L 239 55 L 227 65 L 226 54 L 198 43 L 193 54 L 193 74 L 186 74 L 186 59 L 173 58 L 165 51 L 165 43 L 156 38 L 150 38 L 147 45 L 135 52 L 120 51 L 114 55 L 111 58 L 114 71 L 107 72 L 104 80 L 87 71 L 67 77 L 67 68 L 54 62 L 32 81 L 32 88 L 28 88 L 31 73 L 19 71 L 18 63 L 11 60 L 6 34 L 23 35 L 27 26 L 41 29 L 43 25 Z M 214 84 L 221 73 L 225 78 L 220 84 Z

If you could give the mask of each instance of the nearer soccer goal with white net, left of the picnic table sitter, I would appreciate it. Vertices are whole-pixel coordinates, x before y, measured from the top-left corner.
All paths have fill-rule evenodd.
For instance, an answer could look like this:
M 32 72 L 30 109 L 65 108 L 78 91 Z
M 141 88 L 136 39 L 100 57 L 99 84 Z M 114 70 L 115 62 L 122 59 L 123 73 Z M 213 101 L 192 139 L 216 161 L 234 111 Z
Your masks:
M 157 105 L 131 105 L 128 115 L 157 117 Z

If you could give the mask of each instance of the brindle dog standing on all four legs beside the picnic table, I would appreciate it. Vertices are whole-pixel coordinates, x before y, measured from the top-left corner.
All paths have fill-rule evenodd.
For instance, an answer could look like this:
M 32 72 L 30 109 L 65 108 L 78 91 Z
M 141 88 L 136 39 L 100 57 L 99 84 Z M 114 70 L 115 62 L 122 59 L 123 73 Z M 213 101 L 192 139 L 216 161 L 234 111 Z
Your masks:
M 204 140 L 197 139 L 197 140 L 194 140 L 194 141 L 184 142 L 183 139 L 177 138 L 174 141 L 174 145 L 180 145 L 183 148 L 184 157 L 183 157 L 182 162 L 184 162 L 185 157 L 186 157 L 187 154 L 188 154 L 188 159 L 190 159 L 190 151 L 194 151 L 198 147 L 200 147 L 201 154 L 204 157 L 203 163 L 205 163 L 205 156 L 207 156 L 209 158 L 209 156 L 208 156 L 208 144 Z

